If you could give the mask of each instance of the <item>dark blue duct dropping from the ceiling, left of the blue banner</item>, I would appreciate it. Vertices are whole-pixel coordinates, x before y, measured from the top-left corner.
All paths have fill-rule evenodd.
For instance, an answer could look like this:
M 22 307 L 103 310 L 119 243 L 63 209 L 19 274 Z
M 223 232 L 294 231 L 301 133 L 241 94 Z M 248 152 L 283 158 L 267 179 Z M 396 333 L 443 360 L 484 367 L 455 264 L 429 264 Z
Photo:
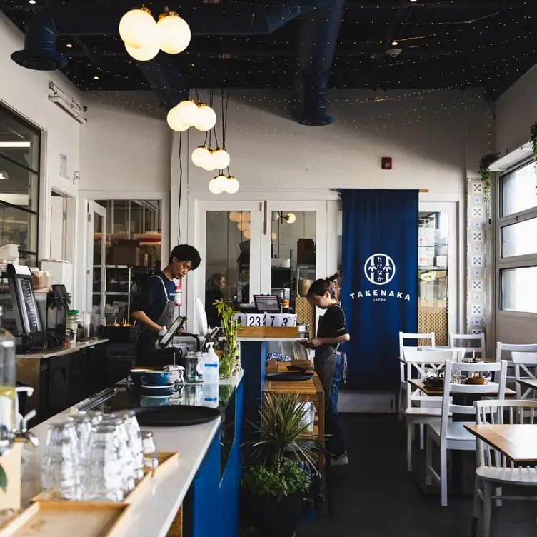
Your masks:
M 328 125 L 326 90 L 336 53 L 345 0 L 331 1 L 298 19 L 297 68 L 292 113 L 302 125 Z

